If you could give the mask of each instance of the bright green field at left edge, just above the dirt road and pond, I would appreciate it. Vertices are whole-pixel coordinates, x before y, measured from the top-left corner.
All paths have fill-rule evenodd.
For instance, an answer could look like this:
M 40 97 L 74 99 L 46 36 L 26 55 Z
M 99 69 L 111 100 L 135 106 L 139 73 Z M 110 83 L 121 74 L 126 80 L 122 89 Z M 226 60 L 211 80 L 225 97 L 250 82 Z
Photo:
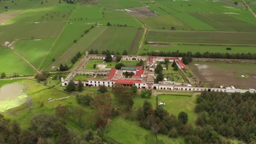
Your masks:
M 33 75 L 34 71 L 23 59 L 7 48 L 0 47 L 0 72 L 7 76 L 18 73 L 19 75 Z

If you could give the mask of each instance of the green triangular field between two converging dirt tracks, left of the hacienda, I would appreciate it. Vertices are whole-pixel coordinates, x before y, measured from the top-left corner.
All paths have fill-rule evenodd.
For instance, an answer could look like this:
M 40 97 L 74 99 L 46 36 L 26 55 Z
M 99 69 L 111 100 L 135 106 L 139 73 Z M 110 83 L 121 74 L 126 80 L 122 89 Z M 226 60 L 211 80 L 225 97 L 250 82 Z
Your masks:
M 16 40 L 11 49 L 38 68 L 55 39 Z

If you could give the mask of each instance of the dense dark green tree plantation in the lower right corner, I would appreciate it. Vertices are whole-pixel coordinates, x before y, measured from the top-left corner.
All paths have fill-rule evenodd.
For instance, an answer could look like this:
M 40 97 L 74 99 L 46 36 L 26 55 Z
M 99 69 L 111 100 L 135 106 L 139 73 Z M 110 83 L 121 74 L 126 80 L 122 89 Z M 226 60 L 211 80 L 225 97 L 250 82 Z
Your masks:
M 196 124 L 212 127 L 216 133 L 246 143 L 255 143 L 256 94 L 202 92 L 197 98 Z

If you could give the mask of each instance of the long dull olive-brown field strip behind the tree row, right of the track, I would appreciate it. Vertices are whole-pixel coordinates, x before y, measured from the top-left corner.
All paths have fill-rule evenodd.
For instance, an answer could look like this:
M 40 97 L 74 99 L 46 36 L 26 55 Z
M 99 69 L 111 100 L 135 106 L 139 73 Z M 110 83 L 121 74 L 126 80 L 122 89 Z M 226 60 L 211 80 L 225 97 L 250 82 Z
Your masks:
M 255 45 L 256 33 L 203 32 L 203 31 L 149 31 L 147 41 L 156 43 Z M 231 46 L 231 45 L 230 45 Z

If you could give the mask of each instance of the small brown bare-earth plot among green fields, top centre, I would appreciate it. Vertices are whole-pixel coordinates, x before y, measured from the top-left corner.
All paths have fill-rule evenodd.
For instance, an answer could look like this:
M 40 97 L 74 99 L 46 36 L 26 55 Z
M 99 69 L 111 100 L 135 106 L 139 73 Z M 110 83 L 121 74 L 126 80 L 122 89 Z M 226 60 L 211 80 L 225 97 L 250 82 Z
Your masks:
M 146 7 L 136 7 L 136 8 L 129 8 L 125 9 L 131 15 L 136 17 L 149 17 L 149 16 L 158 16 L 154 11 L 149 10 Z

